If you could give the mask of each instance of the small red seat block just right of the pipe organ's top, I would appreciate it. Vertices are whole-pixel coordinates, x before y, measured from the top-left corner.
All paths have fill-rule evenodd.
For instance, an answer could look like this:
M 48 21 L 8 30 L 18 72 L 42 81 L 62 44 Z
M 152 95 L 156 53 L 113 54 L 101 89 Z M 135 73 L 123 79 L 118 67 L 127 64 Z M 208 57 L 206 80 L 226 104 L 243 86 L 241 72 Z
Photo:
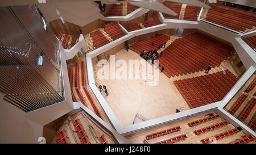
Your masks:
M 61 33 L 60 31 L 56 32 L 56 36 L 59 38 L 63 48 L 65 49 L 71 49 L 73 45 L 79 41 L 77 36 Z

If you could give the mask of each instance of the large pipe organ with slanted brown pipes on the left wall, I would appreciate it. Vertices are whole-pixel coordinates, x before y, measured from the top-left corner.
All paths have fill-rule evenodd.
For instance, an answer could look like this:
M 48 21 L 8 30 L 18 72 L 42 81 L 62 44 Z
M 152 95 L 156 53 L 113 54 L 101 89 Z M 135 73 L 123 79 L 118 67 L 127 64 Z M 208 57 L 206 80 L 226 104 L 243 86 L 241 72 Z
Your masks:
M 59 41 L 35 5 L 0 7 L 0 91 L 25 112 L 64 100 Z

